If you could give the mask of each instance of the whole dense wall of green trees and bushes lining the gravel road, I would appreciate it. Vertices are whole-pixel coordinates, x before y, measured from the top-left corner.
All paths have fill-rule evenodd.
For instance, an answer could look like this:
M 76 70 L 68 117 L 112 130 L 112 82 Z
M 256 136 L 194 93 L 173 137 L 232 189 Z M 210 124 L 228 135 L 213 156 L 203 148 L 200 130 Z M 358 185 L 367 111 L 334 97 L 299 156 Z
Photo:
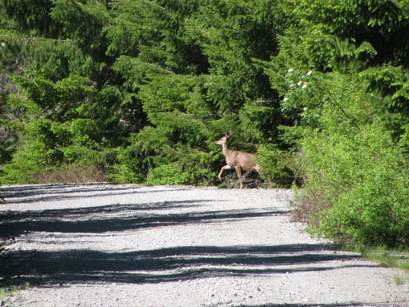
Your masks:
M 313 233 L 409 245 L 408 0 L 4 0 L 0 182 L 220 185 L 215 144 Z M 227 172 L 226 172 L 227 173 Z

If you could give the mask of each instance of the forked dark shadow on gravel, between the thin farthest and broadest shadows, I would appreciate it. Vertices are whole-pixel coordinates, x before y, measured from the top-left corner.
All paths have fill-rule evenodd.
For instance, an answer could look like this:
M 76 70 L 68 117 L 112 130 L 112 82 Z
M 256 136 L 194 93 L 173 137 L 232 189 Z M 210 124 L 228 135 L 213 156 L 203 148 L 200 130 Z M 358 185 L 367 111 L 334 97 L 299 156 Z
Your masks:
M 167 213 L 167 209 L 194 208 L 217 200 L 187 200 L 147 204 L 115 204 L 97 207 L 0 213 L 0 237 L 26 232 L 104 233 L 172 225 L 220 223 L 241 218 L 288 214 L 276 208 L 264 211 L 227 210 Z M 164 211 L 158 214 L 157 211 Z M 154 212 L 151 212 L 154 211 Z

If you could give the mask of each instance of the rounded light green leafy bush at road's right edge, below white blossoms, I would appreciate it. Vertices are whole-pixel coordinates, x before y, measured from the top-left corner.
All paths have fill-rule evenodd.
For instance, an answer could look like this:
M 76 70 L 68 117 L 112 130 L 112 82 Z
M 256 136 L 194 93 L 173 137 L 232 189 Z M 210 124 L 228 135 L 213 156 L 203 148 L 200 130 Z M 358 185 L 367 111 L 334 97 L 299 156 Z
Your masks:
M 311 232 L 364 244 L 409 244 L 407 161 L 390 132 L 326 116 L 302 141 L 302 207 Z

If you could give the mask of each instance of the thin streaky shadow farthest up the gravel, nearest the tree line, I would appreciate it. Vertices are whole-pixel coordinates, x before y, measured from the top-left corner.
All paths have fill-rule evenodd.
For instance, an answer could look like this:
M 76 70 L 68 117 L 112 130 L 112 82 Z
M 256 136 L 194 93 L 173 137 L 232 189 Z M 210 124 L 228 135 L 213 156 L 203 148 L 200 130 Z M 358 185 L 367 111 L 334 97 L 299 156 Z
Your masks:
M 140 190 L 139 190 L 140 189 Z M 178 187 L 175 190 L 188 190 L 189 188 Z M 139 190 L 139 191 L 138 191 Z M 163 190 L 144 190 L 142 186 L 124 186 L 112 184 L 48 184 L 48 185 L 22 185 L 22 186 L 5 186 L 0 188 L 0 193 L 7 202 L 14 204 L 25 204 L 34 202 L 59 201 L 86 199 L 90 196 L 103 197 L 114 195 L 129 195 L 136 193 L 153 193 L 163 192 Z M 84 193 L 84 194 L 80 194 Z

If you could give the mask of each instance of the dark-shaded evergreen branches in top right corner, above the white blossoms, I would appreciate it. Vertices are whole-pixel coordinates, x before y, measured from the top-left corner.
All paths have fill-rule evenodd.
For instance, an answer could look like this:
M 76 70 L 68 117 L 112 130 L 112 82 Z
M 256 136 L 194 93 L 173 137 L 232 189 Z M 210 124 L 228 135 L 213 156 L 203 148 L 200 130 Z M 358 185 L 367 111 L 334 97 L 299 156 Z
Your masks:
M 356 72 L 396 60 L 408 64 L 405 1 L 297 0 L 284 7 L 292 21 L 288 36 L 301 34 L 310 67 Z

